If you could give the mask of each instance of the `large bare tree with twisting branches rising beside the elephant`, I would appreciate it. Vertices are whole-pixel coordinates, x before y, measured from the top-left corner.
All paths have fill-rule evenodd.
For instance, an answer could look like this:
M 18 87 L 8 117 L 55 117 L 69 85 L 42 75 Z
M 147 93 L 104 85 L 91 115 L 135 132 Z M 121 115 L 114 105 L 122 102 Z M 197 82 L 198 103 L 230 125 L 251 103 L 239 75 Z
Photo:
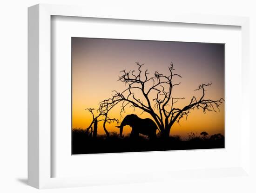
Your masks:
M 142 113 L 148 113 L 155 120 L 161 135 L 168 137 L 174 123 L 180 122 L 183 117 L 187 119 L 190 110 L 197 108 L 202 109 L 203 113 L 206 111 L 216 112 L 224 101 L 223 98 L 219 100 L 205 99 L 205 87 L 212 83 L 200 84 L 195 90 L 202 92 L 200 97 L 193 96 L 190 103 L 183 108 L 175 107 L 175 103 L 185 97 L 176 98 L 172 95 L 173 88 L 181 84 L 180 82 L 174 83 L 174 77 L 182 78 L 174 72 L 173 63 L 168 67 L 168 75 L 155 71 L 152 77 L 149 77 L 148 69 L 141 70 L 144 64 L 136 64 L 138 66 L 136 71 L 121 71 L 122 74 L 118 80 L 123 82 L 126 88 L 122 92 L 113 90 L 112 97 L 100 103 L 101 113 L 109 112 L 118 103 L 121 103 L 120 114 L 127 107 L 141 109 Z

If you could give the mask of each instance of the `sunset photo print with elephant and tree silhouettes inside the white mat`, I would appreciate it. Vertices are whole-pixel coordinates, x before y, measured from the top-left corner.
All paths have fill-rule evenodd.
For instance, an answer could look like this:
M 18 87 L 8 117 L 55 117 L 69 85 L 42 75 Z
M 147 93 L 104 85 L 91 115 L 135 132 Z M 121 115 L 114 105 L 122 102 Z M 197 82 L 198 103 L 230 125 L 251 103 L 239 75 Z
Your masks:
M 72 154 L 224 148 L 224 44 L 72 38 Z

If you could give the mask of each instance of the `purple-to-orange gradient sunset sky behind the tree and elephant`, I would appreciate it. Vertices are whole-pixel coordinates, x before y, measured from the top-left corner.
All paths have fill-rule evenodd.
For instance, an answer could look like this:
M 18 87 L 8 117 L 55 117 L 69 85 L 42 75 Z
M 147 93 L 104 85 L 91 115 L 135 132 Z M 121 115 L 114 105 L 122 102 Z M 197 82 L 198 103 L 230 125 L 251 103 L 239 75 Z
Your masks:
M 120 71 L 136 70 L 135 62 L 145 64 L 149 75 L 155 71 L 168 74 L 168 66 L 174 63 L 175 72 L 182 78 L 175 77 L 174 82 L 182 82 L 173 90 L 173 97 L 185 97 L 177 107 L 189 104 L 199 84 L 212 82 L 206 90 L 205 99 L 224 98 L 224 45 L 208 43 L 144 41 L 122 39 L 72 38 L 72 128 L 86 129 L 92 116 L 86 108 L 98 108 L 99 102 L 111 96 L 111 90 L 122 91 L 125 85 L 117 81 Z M 116 107 L 109 114 L 122 120 L 120 109 Z M 141 118 L 149 117 L 140 110 L 126 109 L 126 114 L 135 113 Z M 108 124 L 108 131 L 119 132 L 116 123 Z M 131 128 L 126 126 L 124 133 Z M 192 110 L 187 121 L 175 123 L 171 135 L 187 136 L 190 132 L 207 131 L 209 135 L 224 135 L 224 104 L 220 112 Z M 102 123 L 98 124 L 98 133 L 104 134 Z

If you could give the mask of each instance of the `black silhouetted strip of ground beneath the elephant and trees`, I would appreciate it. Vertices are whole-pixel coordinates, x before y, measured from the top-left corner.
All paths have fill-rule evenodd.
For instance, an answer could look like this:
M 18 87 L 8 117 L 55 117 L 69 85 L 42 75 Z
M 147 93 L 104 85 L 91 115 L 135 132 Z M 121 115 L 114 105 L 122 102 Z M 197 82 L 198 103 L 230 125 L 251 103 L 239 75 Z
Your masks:
M 142 151 L 167 151 L 185 149 L 211 149 L 224 148 L 224 136 L 221 134 L 211 136 L 198 136 L 189 134 L 182 140 L 179 136 L 170 136 L 167 139 L 157 137 L 148 140 L 145 137 L 130 139 L 128 136 L 120 138 L 117 133 L 97 135 L 90 137 L 85 130 L 72 130 L 72 154 L 98 154 Z

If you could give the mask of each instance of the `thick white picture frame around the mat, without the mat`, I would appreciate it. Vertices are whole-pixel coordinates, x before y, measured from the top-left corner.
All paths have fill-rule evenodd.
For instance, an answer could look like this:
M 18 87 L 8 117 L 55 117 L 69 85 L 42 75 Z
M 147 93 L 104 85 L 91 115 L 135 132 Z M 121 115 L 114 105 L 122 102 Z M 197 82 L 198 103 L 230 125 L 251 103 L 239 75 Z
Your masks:
M 150 182 L 182 178 L 181 171 L 157 171 L 152 175 L 91 175 L 88 177 L 51 177 L 51 16 L 130 19 L 155 22 L 178 22 L 204 25 L 240 26 L 242 31 L 242 97 L 249 98 L 249 18 L 216 15 L 179 15 L 130 13 L 113 9 L 95 12 L 88 7 L 39 4 L 28 8 L 28 185 L 36 188 L 77 187 L 97 184 Z M 249 167 L 249 100 L 243 100 L 241 120 L 242 160 L 239 167 L 205 168 L 187 172 L 195 176 L 223 178 L 226 174 L 251 180 Z M 160 177 L 161 176 L 161 177 Z M 228 181 L 227 181 L 228 182 Z

